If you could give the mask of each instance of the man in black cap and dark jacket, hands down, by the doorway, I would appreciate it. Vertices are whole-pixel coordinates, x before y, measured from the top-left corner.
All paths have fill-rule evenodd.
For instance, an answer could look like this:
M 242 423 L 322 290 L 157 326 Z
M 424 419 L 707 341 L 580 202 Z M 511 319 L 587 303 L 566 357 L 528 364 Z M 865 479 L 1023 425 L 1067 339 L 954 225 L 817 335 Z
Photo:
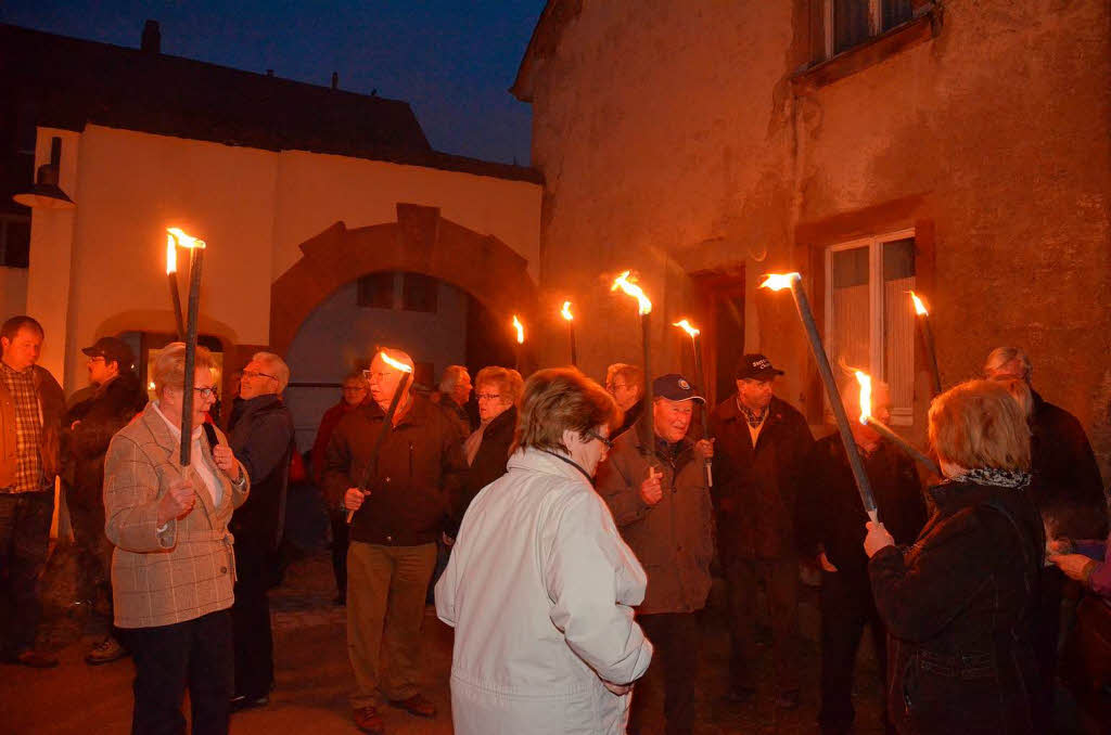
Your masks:
M 772 395 L 783 371 L 762 354 L 737 366 L 737 393 L 710 416 L 717 439 L 713 476 L 718 553 L 729 582 L 730 699 L 755 692 L 757 587 L 767 592 L 777 704 L 799 704 L 799 554 L 795 499 L 814 439 L 807 420 Z

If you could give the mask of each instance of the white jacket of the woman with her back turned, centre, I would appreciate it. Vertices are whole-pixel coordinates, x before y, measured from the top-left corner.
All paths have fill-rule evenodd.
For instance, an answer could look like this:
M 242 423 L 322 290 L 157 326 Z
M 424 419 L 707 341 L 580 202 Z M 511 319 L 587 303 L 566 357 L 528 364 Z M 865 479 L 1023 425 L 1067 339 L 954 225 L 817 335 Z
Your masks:
M 537 450 L 471 503 L 436 585 L 456 628 L 457 735 L 623 733 L 630 697 L 602 679 L 644 674 L 652 644 L 633 621 L 644 570 L 578 469 Z

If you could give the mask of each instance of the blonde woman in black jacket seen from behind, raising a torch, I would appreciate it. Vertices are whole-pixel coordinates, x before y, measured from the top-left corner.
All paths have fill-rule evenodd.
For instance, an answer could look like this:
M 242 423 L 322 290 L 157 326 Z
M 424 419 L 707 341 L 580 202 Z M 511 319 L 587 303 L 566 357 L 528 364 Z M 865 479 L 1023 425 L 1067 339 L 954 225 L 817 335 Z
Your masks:
M 1004 385 L 971 381 L 933 400 L 944 481 L 918 541 L 869 523 L 864 551 L 889 634 L 888 714 L 900 733 L 1033 733 L 1031 641 L 1044 552 L 1029 493 L 1030 430 Z

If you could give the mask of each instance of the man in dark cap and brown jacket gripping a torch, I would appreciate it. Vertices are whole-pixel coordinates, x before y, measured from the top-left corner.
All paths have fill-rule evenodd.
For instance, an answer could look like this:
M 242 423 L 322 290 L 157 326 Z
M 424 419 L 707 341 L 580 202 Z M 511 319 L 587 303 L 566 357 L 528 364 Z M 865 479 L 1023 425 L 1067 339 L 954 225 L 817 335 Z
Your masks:
M 637 620 L 663 664 L 665 732 L 679 735 L 690 733 L 694 722 L 699 647 L 694 613 L 710 594 L 713 506 L 702 460 L 713 455 L 713 445 L 687 436 L 693 404 L 705 400 L 682 375 L 655 379 L 652 393 L 654 445 L 643 446 L 639 432 L 621 434 L 598 469 L 597 486 L 648 572 Z M 659 668 L 649 668 L 650 682 L 659 681 Z M 630 733 L 642 732 L 643 702 L 644 697 L 633 697 Z

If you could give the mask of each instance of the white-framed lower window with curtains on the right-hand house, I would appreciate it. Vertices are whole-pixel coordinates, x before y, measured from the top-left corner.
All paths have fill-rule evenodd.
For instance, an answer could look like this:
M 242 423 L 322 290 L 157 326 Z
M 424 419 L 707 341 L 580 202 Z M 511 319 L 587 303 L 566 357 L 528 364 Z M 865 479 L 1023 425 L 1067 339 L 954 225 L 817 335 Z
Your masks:
M 891 386 L 891 423 L 909 426 L 914 404 L 914 231 L 825 251 L 825 349 L 834 366 L 867 370 Z

